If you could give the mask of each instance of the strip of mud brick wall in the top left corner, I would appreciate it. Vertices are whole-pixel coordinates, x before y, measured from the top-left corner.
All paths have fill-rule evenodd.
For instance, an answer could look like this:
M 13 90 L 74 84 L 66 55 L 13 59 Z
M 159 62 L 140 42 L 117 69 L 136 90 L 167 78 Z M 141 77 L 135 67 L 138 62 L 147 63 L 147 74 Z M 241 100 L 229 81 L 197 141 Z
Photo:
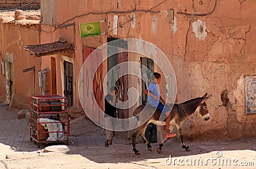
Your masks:
M 33 1 L 33 0 L 0 0 L 0 9 L 1 10 L 9 10 L 13 8 L 21 8 L 22 10 L 29 10 L 29 9 L 39 9 L 40 8 L 40 0 Z M 31 3 L 31 4 L 29 4 Z M 28 4 L 28 5 L 26 5 Z M 25 6 L 26 5 L 26 6 Z

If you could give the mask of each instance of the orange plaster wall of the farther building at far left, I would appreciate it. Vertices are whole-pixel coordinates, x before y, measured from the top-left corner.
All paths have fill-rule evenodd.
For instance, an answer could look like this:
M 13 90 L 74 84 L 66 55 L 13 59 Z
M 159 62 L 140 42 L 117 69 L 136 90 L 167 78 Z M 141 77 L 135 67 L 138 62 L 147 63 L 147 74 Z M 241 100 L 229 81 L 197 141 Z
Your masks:
M 40 94 L 38 86 L 38 70 L 40 70 L 41 59 L 35 58 L 29 52 L 24 50 L 24 45 L 35 45 L 40 43 L 40 33 L 38 25 L 20 26 L 14 23 L 0 23 L 1 27 L 1 59 L 5 60 L 5 55 L 13 57 L 14 66 L 14 86 L 15 94 L 12 97 L 12 107 L 26 108 L 30 103 L 30 96 Z M 33 71 L 23 73 L 22 70 L 35 66 L 35 89 L 33 89 Z M 1 75 L 0 96 L 5 101 L 6 99 L 6 77 Z

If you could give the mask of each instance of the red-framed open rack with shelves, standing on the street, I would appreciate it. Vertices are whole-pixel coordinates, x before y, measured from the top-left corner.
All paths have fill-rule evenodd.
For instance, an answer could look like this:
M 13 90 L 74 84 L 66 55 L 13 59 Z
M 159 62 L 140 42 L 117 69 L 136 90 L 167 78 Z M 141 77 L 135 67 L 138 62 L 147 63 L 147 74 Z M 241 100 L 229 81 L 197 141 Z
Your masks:
M 68 144 L 69 117 L 67 111 L 67 98 L 59 95 L 31 96 L 30 111 L 30 141 L 38 143 L 65 143 Z M 52 119 L 53 122 L 40 122 L 40 119 Z M 42 121 L 42 120 L 41 120 Z M 58 123 L 63 131 L 48 131 L 47 124 Z M 64 140 L 47 141 L 49 133 L 64 133 Z

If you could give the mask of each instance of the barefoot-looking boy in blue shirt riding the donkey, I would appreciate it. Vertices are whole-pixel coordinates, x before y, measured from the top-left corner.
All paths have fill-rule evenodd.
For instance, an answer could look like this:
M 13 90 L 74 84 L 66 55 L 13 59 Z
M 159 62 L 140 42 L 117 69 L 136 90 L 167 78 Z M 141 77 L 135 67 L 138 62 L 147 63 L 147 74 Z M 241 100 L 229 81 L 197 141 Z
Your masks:
M 176 134 L 172 134 L 169 131 L 170 126 L 170 120 L 172 114 L 168 114 L 168 107 L 164 107 L 163 103 L 165 103 L 164 99 L 160 96 L 159 89 L 157 87 L 157 84 L 159 84 L 161 81 L 161 75 L 157 72 L 154 72 L 152 75 L 152 83 L 148 86 L 148 89 L 144 91 L 145 94 L 148 95 L 148 104 L 152 107 L 157 108 L 162 112 L 162 114 L 165 114 L 166 117 L 166 127 L 164 129 L 164 135 L 166 138 L 175 137 Z M 163 101 L 163 103 L 161 103 Z

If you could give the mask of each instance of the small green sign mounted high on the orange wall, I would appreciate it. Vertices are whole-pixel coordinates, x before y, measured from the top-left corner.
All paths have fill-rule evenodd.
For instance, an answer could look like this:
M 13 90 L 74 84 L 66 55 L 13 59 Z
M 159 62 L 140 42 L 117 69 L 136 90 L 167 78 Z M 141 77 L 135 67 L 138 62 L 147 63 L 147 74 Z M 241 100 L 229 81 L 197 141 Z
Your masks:
M 99 36 L 100 32 L 100 22 L 91 22 L 87 24 L 80 24 L 80 36 L 81 38 L 90 36 Z

